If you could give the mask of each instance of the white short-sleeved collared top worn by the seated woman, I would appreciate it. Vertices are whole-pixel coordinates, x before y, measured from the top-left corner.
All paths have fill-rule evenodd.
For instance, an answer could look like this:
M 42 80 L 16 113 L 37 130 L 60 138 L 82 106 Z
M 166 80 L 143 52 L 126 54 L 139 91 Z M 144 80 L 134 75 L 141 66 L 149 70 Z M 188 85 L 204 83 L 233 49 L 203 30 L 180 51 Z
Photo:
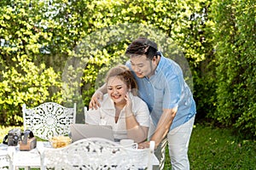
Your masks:
M 131 93 L 130 93 L 131 94 Z M 149 127 L 150 118 L 148 106 L 137 96 L 130 95 L 132 103 L 132 113 L 136 117 L 140 126 Z M 96 125 L 109 125 L 113 127 L 114 139 L 127 139 L 125 111 L 120 112 L 119 120 L 115 122 L 114 103 L 108 94 L 103 96 L 101 107 L 97 110 L 89 110 L 85 113 L 85 123 Z

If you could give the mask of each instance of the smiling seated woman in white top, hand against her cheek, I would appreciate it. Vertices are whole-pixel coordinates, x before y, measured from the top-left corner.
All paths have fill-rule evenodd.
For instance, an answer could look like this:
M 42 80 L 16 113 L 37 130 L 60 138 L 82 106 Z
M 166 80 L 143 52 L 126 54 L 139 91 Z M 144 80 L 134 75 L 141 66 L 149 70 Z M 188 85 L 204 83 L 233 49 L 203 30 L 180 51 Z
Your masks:
M 148 137 L 150 124 L 146 103 L 138 98 L 137 83 L 125 65 L 108 71 L 106 77 L 108 94 L 103 96 L 101 107 L 86 113 L 89 124 L 110 125 L 115 139 L 133 139 L 141 143 Z

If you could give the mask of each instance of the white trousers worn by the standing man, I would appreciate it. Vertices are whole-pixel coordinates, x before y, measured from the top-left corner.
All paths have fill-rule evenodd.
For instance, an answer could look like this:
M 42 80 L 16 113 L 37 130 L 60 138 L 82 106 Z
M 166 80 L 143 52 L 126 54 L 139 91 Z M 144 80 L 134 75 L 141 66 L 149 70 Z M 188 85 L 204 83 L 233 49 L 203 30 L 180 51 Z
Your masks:
M 172 129 L 167 138 L 164 139 L 154 151 L 155 156 L 160 161 L 160 167 L 154 169 L 164 169 L 166 158 L 166 144 L 168 142 L 169 155 L 171 157 L 172 170 L 189 170 L 189 139 L 193 130 L 195 116 L 189 122 Z

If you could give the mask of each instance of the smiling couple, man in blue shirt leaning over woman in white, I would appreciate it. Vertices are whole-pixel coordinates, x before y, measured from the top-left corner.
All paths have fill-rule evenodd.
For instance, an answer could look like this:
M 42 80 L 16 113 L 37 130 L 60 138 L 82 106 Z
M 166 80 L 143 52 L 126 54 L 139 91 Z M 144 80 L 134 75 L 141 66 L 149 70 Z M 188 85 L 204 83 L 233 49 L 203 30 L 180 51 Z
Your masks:
M 167 143 L 172 169 L 189 169 L 188 147 L 196 111 L 183 71 L 147 38 L 131 42 L 125 54 L 130 60 L 108 71 L 106 83 L 90 100 L 90 109 L 108 110 L 102 121 L 120 132 L 116 133 L 119 139 L 134 139 L 139 148 L 149 147 L 154 140 L 160 169 Z M 148 137 L 151 121 L 154 133 Z

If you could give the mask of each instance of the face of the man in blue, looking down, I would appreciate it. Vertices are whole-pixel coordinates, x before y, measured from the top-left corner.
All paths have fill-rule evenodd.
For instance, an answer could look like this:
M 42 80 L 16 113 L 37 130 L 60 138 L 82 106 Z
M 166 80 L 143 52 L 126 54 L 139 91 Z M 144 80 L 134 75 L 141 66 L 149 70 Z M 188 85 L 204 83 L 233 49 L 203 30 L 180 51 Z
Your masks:
M 151 77 L 154 74 L 156 65 L 146 54 L 131 56 L 131 69 L 136 73 L 137 77 Z

